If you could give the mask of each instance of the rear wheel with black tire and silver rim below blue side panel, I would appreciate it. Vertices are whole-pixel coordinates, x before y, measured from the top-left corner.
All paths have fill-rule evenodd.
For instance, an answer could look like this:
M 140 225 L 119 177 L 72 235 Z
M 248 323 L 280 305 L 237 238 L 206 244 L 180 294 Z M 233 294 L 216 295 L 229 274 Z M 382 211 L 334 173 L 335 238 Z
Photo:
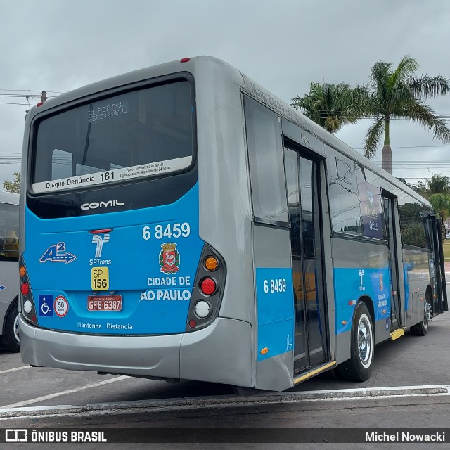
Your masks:
M 366 381 L 373 366 L 373 325 L 366 304 L 356 304 L 352 323 L 350 359 L 337 368 L 340 378 L 352 381 Z

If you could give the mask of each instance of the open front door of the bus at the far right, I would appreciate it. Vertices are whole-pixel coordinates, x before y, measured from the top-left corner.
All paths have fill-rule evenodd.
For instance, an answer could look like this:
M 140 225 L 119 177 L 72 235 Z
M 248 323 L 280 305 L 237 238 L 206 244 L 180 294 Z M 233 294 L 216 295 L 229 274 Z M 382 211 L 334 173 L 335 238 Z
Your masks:
M 429 214 L 427 220 L 427 234 L 432 248 L 430 259 L 430 278 L 434 284 L 432 314 L 448 311 L 445 284 L 444 252 L 442 248 L 442 221 L 434 214 Z

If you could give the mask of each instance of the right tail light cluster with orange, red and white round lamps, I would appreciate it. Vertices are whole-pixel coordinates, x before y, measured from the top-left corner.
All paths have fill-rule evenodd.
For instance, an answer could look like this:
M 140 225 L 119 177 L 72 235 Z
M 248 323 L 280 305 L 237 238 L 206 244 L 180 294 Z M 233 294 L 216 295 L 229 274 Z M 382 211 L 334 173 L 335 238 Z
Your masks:
M 224 294 L 225 278 L 224 259 L 210 245 L 205 244 L 195 274 L 186 331 L 200 330 L 216 319 Z

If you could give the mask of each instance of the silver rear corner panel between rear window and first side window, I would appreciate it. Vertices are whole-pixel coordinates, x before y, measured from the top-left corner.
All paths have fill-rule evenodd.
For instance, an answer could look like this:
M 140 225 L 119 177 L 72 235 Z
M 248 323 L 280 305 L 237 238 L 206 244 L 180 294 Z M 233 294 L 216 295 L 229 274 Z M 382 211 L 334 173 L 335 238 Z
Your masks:
M 226 264 L 219 316 L 252 323 L 252 207 L 239 72 L 200 58 L 196 72 L 200 238 Z M 255 373 L 254 373 L 255 376 Z

